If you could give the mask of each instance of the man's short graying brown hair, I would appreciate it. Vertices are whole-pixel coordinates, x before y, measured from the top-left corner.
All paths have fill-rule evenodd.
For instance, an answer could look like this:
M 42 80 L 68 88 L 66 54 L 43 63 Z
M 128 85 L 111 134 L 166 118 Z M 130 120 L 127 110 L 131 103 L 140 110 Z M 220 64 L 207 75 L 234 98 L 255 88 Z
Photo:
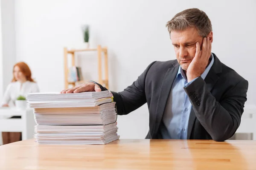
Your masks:
M 166 23 L 169 33 L 171 31 L 184 31 L 187 28 L 195 27 L 202 37 L 212 31 L 212 23 L 204 11 L 198 8 L 190 8 L 177 13 L 172 20 Z

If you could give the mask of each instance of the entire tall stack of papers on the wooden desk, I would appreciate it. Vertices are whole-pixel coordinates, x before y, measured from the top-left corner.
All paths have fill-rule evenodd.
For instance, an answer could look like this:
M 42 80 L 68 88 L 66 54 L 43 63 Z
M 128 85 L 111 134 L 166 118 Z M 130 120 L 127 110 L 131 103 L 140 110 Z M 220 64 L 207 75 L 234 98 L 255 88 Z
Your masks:
M 107 144 L 119 139 L 110 91 L 75 94 L 31 93 L 39 144 Z

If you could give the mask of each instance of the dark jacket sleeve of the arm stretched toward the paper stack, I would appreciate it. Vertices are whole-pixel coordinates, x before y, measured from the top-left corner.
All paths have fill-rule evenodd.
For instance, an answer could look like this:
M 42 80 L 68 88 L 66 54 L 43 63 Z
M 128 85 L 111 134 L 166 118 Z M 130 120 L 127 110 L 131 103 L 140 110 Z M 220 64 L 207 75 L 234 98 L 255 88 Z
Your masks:
M 133 82 L 132 85 L 125 88 L 124 91 L 121 91 L 119 93 L 111 91 L 114 97 L 114 102 L 116 102 L 117 114 L 128 114 L 146 103 L 145 78 L 147 76 L 148 70 L 153 64 L 154 62 L 148 65 L 148 67 L 137 78 L 137 80 Z M 100 86 L 102 91 L 108 90 L 107 88 L 102 87 L 102 85 L 98 83 L 96 84 Z

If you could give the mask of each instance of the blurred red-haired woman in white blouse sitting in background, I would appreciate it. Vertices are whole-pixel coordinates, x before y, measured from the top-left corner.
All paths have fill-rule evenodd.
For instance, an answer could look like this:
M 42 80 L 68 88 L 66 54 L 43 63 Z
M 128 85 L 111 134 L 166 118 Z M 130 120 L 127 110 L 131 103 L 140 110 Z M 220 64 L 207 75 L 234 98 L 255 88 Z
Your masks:
M 39 92 L 37 83 L 31 77 L 29 66 L 25 62 L 18 62 L 13 66 L 12 82 L 8 85 L 3 96 L 2 107 L 15 106 L 18 96 L 26 96 L 29 93 Z M 11 118 L 20 118 L 13 116 Z M 20 132 L 3 132 L 3 144 L 17 142 L 21 140 Z

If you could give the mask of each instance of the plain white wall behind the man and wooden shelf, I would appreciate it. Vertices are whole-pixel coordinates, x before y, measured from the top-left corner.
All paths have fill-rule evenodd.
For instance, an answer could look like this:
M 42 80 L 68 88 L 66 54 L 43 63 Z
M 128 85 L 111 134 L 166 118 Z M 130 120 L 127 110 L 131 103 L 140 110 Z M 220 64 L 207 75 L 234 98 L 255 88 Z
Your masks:
M 108 46 L 110 90 L 122 91 L 154 60 L 175 59 L 165 24 L 186 8 L 204 10 L 212 21 L 212 51 L 249 81 L 248 103 L 256 100 L 256 1 L 205 0 L 17 0 L 16 57 L 32 68 L 41 91 L 64 88 L 63 48 L 81 48 L 81 25 L 91 26 L 91 47 Z M 92 69 L 93 54 L 79 55 Z M 83 57 L 81 59 L 81 57 Z M 96 60 L 95 60 L 96 61 Z M 89 64 L 90 63 L 90 64 Z M 93 70 L 92 75 L 96 76 Z M 92 76 L 92 77 L 93 77 Z M 148 130 L 146 105 L 119 116 L 122 138 L 144 138 Z

